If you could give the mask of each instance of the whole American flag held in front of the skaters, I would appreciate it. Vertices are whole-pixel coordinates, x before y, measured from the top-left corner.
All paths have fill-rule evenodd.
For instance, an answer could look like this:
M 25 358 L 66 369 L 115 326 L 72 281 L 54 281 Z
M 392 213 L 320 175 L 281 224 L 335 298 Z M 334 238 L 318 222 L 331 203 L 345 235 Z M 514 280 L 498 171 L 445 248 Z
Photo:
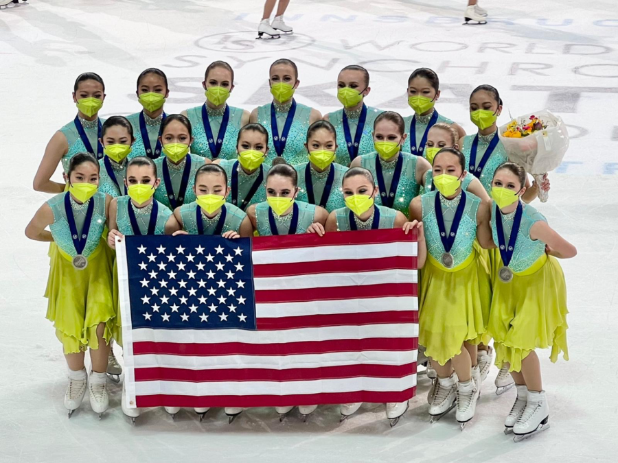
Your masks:
M 402 402 L 415 233 L 137 236 L 117 246 L 129 407 Z

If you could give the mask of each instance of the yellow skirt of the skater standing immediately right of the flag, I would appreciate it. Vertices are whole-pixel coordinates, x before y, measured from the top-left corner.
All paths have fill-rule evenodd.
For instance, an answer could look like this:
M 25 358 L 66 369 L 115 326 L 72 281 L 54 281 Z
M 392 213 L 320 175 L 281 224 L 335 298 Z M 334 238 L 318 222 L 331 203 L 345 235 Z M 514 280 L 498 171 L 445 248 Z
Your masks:
M 440 365 L 461 352 L 464 341 L 479 344 L 492 299 L 490 276 L 476 252 L 452 270 L 427 257 L 422 270 L 418 342 Z

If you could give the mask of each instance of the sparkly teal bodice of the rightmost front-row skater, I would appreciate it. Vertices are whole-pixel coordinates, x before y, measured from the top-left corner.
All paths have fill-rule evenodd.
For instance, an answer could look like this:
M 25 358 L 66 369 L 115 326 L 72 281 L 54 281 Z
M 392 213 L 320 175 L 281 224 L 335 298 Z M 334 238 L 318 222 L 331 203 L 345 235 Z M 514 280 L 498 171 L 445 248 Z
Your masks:
M 515 250 L 513 257 L 509 263 L 509 267 L 513 272 L 523 272 L 529 268 L 536 260 L 545 254 L 545 243 L 537 239 L 534 241 L 530 237 L 530 228 L 542 220 L 547 222 L 547 219 L 538 212 L 534 207 L 529 204 L 523 205 L 523 213 L 521 215 L 521 223 L 519 224 L 519 234 L 517 235 L 517 241 L 515 241 Z M 513 219 L 515 212 L 502 216 L 502 224 L 505 235 L 505 245 L 508 246 L 511 236 L 511 230 L 513 228 Z M 492 202 L 492 236 L 494 237 L 494 243 L 496 246 L 500 246 L 498 241 L 498 230 L 496 228 L 496 203 Z

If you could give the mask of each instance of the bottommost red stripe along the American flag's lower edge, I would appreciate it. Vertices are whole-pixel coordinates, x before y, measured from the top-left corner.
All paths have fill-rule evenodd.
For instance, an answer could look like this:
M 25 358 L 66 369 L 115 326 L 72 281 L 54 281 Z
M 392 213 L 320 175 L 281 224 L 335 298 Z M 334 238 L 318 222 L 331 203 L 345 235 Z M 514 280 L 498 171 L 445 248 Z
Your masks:
M 289 396 L 137 396 L 137 407 L 286 407 L 290 405 L 339 404 L 354 402 L 404 402 L 416 393 L 416 386 L 404 391 L 323 392 Z M 274 412 L 273 412 L 274 413 Z

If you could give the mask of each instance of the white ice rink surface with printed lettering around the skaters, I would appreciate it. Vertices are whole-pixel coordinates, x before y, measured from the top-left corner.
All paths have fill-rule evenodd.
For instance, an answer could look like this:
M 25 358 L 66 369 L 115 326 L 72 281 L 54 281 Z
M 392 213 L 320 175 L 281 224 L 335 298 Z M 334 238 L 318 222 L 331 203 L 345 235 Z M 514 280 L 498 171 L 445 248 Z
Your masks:
M 463 26 L 464 0 L 292 0 L 293 36 L 258 41 L 258 0 L 32 0 L 0 11 L 0 462 L 615 462 L 618 451 L 616 302 L 618 260 L 618 3 L 615 0 L 483 0 L 485 26 Z M 416 67 L 439 73 L 439 111 L 468 132 L 468 95 L 499 88 L 509 112 L 549 108 L 569 125 L 571 147 L 551 174 L 550 200 L 535 206 L 579 255 L 562 261 L 569 288 L 570 361 L 540 353 L 551 428 L 515 444 L 503 420 L 515 391 L 483 383 L 477 416 L 463 431 L 450 414 L 428 423 L 429 382 L 391 429 L 384 405 L 366 404 L 339 424 L 335 406 L 302 423 L 251 409 L 232 425 L 214 409 L 199 423 L 151 409 L 131 427 L 120 386 L 100 421 L 88 399 L 70 420 L 62 405 L 66 366 L 45 320 L 47 244 L 23 229 L 48 195 L 32 179 L 49 138 L 75 117 L 79 73 L 106 83 L 102 117 L 141 109 L 137 75 L 159 67 L 170 78 L 169 113 L 204 101 L 209 62 L 236 71 L 230 104 L 264 104 L 268 65 L 299 66 L 299 102 L 333 110 L 336 75 L 347 64 L 371 73 L 366 102 L 411 112 L 404 95 Z M 60 179 L 60 172 L 56 174 Z M 119 354 L 119 352 L 117 352 Z

